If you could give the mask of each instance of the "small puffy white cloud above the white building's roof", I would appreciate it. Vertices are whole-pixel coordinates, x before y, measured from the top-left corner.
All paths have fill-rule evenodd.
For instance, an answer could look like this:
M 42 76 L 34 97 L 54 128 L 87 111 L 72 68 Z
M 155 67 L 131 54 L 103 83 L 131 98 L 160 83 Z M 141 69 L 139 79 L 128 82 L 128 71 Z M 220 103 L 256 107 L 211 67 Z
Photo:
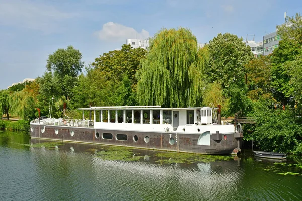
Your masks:
M 101 40 L 125 41 L 128 38 L 146 39 L 149 32 L 142 29 L 141 32 L 135 31 L 132 27 L 127 27 L 118 23 L 107 22 L 102 30 L 95 32 Z

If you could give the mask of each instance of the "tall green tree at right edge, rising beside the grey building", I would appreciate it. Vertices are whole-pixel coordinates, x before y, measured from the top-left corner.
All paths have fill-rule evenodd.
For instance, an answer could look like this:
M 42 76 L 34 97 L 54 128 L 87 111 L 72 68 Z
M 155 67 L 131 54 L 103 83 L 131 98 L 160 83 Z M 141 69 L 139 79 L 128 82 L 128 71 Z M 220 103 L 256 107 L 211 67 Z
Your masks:
M 271 57 L 273 94 L 282 104 L 293 105 L 293 96 L 296 95 L 294 86 L 297 85 L 290 80 L 292 73 L 296 71 L 294 67 L 297 59 L 302 55 L 302 17 L 300 14 L 289 17 L 286 24 L 277 28 L 282 40 Z

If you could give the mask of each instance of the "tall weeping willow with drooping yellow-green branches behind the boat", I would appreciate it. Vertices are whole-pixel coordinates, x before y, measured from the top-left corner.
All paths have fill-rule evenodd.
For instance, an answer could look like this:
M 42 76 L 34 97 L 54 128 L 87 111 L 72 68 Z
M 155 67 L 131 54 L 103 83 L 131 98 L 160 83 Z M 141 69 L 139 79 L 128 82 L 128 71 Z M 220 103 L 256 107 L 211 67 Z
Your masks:
M 139 103 L 164 107 L 200 105 L 207 58 L 207 49 L 198 49 L 190 30 L 162 29 L 150 39 L 149 52 L 136 73 Z

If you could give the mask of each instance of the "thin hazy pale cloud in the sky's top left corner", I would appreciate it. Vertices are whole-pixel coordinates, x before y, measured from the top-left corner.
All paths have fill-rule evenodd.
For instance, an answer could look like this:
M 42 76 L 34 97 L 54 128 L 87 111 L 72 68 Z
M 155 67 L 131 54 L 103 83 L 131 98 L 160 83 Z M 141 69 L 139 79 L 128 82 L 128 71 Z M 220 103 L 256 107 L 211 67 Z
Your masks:
M 40 30 L 44 33 L 58 32 L 62 21 L 77 16 L 47 4 L 26 0 L 0 0 L 0 5 L 0 25 Z

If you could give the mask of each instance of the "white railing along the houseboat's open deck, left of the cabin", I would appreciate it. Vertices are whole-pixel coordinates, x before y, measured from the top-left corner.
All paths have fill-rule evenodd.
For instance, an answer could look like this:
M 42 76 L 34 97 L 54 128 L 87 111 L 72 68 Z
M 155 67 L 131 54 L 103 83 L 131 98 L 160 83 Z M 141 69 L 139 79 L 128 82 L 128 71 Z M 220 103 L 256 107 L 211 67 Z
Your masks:
M 75 127 L 94 127 L 93 120 L 77 120 L 77 119 L 55 119 L 55 118 L 36 118 L 32 123 L 57 126 L 75 126 Z

